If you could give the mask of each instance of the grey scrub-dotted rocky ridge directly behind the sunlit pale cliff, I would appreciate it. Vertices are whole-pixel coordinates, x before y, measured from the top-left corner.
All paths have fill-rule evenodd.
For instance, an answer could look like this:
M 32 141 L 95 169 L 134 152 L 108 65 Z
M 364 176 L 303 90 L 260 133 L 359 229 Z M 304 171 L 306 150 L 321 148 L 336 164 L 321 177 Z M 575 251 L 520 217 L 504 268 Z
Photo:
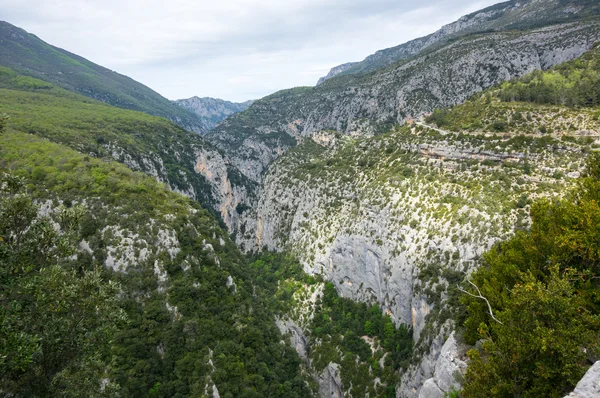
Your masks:
M 365 76 L 340 76 L 315 88 L 263 98 L 208 138 L 258 181 L 300 137 L 326 129 L 373 135 L 502 81 L 573 59 L 599 39 L 598 19 L 462 36 Z

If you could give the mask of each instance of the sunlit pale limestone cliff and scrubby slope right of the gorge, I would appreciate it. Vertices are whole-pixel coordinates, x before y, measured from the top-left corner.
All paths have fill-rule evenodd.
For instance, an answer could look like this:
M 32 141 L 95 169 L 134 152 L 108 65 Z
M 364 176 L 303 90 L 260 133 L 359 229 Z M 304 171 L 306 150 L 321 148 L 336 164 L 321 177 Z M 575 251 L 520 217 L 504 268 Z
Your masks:
M 597 51 L 558 70 L 597 79 Z M 303 137 L 271 165 L 242 215 L 243 249 L 290 251 L 342 297 L 377 303 L 412 327 L 415 352 L 398 396 L 419 396 L 425 383 L 449 391 L 448 369 L 464 369 L 458 348 L 449 348 L 455 343 L 444 344 L 456 284 L 482 253 L 528 227 L 532 200 L 566 192 L 586 152 L 600 147 L 597 104 L 502 101 L 509 86 L 450 110 L 449 127 L 417 121 L 374 137 Z M 594 92 L 593 81 L 586 87 Z M 300 326 L 296 336 L 305 333 Z M 440 356 L 450 351 L 451 363 Z M 328 374 L 328 385 L 339 387 Z

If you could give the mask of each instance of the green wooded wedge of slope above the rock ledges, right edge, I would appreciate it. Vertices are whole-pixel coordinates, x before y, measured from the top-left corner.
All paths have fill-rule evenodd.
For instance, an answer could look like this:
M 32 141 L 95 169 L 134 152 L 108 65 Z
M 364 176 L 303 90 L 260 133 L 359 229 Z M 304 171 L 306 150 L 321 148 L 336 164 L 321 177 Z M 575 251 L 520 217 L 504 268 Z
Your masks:
M 600 46 L 475 95 L 426 120 L 451 131 L 582 135 L 600 129 Z

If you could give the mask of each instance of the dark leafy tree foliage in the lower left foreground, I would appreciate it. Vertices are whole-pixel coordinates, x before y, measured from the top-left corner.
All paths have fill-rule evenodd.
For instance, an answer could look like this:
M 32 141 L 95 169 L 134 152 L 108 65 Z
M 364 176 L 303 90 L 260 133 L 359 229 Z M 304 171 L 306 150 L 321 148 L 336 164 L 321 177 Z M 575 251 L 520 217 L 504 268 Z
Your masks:
M 0 179 L 0 384 L 16 397 L 102 396 L 112 337 L 125 320 L 118 284 L 77 269 L 81 208 L 62 208 L 61 232 L 22 192 Z

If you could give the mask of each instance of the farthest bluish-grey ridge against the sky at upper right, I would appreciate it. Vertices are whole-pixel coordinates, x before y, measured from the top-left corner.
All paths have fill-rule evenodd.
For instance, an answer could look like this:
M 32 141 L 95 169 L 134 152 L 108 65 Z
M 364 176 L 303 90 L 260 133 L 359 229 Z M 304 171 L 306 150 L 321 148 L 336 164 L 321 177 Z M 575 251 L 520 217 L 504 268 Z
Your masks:
M 597 15 L 598 2 L 594 0 L 525 0 L 507 1 L 465 15 L 435 33 L 369 55 L 362 62 L 336 66 L 319 79 L 317 85 L 340 74 L 365 74 L 397 61 L 410 58 L 434 45 L 443 45 L 456 37 L 500 30 L 530 29 Z

